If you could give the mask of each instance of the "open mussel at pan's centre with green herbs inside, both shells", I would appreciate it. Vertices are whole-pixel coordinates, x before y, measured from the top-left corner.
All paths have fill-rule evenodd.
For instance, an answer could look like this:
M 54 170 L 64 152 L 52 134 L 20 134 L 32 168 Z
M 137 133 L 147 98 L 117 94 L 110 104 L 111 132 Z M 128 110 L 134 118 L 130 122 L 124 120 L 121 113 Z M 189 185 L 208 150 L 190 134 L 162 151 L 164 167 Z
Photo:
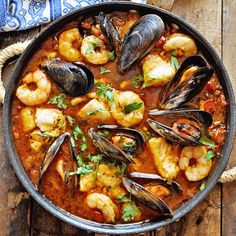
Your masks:
M 111 138 L 118 137 L 118 142 L 122 144 L 122 140 L 128 139 L 129 145 L 119 145 L 113 144 L 107 137 L 101 134 L 101 131 L 109 131 L 111 133 Z M 99 149 L 108 158 L 114 160 L 119 160 L 124 163 L 132 163 L 132 156 L 139 152 L 145 143 L 145 138 L 143 135 L 135 129 L 121 128 L 116 125 L 101 125 L 96 128 L 89 129 L 89 135 L 93 140 L 93 144 L 97 149 Z

